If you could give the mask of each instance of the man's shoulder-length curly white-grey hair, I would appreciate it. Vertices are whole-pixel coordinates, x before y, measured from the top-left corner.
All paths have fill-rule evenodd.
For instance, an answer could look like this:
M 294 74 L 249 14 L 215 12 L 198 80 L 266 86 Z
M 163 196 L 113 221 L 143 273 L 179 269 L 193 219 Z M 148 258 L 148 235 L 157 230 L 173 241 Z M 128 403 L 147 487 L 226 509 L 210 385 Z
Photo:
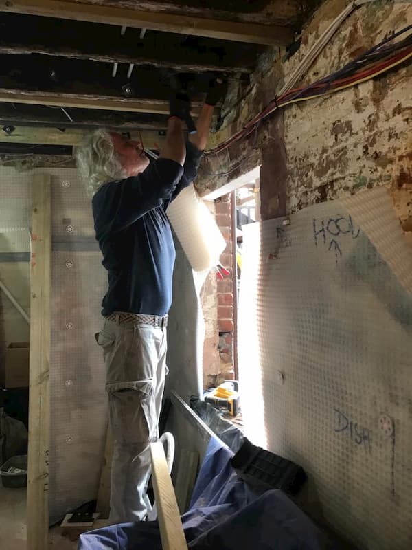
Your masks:
M 100 186 L 108 181 L 126 177 L 115 152 L 111 135 L 104 128 L 91 132 L 82 145 L 76 147 L 74 156 L 80 180 L 90 197 L 93 197 Z

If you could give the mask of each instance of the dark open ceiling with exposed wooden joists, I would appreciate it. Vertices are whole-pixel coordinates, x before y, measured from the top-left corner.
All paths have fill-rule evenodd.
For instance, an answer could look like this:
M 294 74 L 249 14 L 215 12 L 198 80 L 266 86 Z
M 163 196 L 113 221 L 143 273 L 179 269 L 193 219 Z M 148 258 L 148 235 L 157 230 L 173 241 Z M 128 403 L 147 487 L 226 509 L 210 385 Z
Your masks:
M 310 9 L 304 6 L 296 0 L 2 2 L 0 141 L 58 144 L 58 129 L 67 144 L 71 129 L 97 126 L 163 133 L 172 75 L 196 115 L 216 76 L 248 83 L 267 47 L 293 43 Z M 30 128 L 53 129 L 55 137 Z

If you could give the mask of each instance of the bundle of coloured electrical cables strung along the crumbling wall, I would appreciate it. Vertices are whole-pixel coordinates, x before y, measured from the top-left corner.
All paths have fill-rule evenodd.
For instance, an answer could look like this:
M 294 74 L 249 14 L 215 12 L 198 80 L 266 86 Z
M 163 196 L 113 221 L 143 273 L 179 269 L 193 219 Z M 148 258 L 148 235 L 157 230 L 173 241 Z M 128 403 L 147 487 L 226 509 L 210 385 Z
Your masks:
M 284 92 L 281 96 L 275 97 L 242 130 L 216 148 L 207 151 L 206 154 L 220 153 L 220 151 L 225 151 L 233 143 L 246 139 L 253 131 L 257 131 L 258 126 L 280 107 L 332 94 L 335 91 L 363 83 L 404 63 L 404 61 L 407 61 L 412 56 L 412 33 L 401 41 L 394 42 L 394 40 L 411 29 L 412 25 L 408 25 L 392 34 L 387 39 L 371 47 L 367 52 L 347 63 L 338 71 L 306 87 L 291 89 Z

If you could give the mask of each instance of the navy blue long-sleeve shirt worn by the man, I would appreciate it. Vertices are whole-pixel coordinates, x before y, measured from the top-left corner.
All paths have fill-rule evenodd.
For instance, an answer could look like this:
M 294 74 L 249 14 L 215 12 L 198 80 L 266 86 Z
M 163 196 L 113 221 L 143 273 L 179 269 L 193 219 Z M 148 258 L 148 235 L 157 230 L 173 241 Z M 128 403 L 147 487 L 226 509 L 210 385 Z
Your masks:
M 94 195 L 96 239 L 108 270 L 104 316 L 113 311 L 168 313 L 176 252 L 165 212 L 196 178 L 201 155 L 187 142 L 183 167 L 157 159 L 139 175 L 104 184 Z

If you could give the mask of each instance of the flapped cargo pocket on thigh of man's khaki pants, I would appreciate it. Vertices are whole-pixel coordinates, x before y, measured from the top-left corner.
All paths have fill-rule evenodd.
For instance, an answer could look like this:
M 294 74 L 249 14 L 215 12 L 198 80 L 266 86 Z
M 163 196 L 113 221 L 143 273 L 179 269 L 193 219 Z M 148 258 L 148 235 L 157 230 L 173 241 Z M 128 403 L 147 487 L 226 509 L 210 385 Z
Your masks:
M 157 439 L 155 391 L 151 380 L 106 384 L 115 441 L 146 446 Z

